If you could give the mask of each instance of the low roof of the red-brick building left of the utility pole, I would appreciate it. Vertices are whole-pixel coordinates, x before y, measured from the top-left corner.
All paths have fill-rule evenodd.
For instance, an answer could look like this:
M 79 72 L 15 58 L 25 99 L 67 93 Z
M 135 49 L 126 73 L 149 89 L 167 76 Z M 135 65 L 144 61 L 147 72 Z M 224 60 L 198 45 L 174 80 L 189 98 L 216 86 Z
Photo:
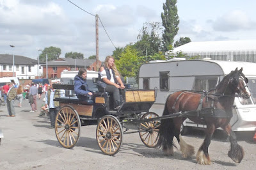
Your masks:
M 53 61 L 48 61 L 47 65 L 48 66 L 90 66 L 94 62 L 95 62 L 95 59 L 58 58 Z

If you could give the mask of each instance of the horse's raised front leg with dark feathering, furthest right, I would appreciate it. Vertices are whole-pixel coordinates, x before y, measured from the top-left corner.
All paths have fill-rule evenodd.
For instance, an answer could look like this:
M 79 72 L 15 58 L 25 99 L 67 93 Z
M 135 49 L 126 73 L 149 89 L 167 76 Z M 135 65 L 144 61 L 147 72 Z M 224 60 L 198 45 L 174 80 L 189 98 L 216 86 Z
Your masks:
M 228 134 L 230 140 L 230 151 L 228 151 L 228 157 L 230 157 L 234 162 L 240 163 L 244 157 L 244 150 L 242 146 L 237 144 L 236 134 L 232 131 L 230 124 L 223 128 L 223 130 Z

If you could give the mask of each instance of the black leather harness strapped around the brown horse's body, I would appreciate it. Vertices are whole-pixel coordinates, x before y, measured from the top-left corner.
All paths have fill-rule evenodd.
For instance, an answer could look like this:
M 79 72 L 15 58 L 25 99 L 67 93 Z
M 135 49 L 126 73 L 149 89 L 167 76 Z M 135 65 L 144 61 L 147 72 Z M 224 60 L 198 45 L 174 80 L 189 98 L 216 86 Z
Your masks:
M 175 105 L 177 104 L 179 98 L 184 93 L 186 93 L 186 91 L 182 91 L 182 93 L 180 93 L 179 96 L 175 99 L 172 109 L 175 110 L 176 112 L 178 111 L 175 109 Z M 208 98 L 212 99 L 211 107 L 202 108 L 203 100 L 205 97 L 206 97 L 206 102 L 208 102 Z M 196 117 L 202 117 L 202 118 L 232 118 L 233 116 L 232 110 L 223 111 L 221 109 L 214 107 L 215 100 L 216 98 L 209 97 L 209 95 L 204 91 L 204 93 L 200 97 L 197 109 L 195 111 L 189 111 L 189 115 L 187 115 L 188 112 L 186 112 L 186 116 L 196 116 Z M 182 112 L 180 112 L 180 114 L 182 114 Z

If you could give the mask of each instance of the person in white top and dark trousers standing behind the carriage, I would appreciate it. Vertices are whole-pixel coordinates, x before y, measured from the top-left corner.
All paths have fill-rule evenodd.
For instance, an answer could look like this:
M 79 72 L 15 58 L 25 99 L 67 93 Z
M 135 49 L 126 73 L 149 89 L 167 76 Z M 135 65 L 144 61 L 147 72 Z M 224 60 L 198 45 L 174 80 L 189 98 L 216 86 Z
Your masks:
M 54 92 L 55 92 L 55 89 L 52 89 L 52 86 L 49 84 L 48 90 L 46 91 L 46 94 L 45 94 L 45 107 L 49 108 L 50 121 L 51 121 L 50 129 L 55 127 L 54 123 L 56 119 L 56 114 L 60 106 L 58 101 L 54 101 L 54 98 L 58 97 L 58 94 L 57 93 L 55 94 Z

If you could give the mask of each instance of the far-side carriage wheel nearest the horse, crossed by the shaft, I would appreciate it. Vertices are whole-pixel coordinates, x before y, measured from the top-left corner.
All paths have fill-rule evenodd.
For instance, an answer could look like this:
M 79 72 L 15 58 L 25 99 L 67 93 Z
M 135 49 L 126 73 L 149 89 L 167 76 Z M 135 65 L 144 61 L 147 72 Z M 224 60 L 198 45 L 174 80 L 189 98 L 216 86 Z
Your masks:
M 158 114 L 155 112 L 147 112 L 141 117 L 141 120 L 157 118 Z M 139 134 L 141 141 L 148 148 L 155 148 L 158 141 L 158 132 L 159 132 L 160 121 L 149 121 L 140 123 Z

